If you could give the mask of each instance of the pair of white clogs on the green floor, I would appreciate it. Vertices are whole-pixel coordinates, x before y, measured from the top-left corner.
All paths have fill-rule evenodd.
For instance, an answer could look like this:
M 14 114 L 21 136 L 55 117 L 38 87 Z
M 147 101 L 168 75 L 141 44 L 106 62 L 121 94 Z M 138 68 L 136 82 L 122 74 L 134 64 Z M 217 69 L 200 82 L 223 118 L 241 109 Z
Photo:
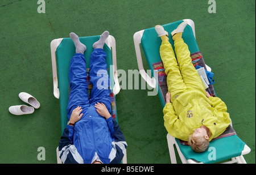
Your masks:
M 38 102 L 38 100 L 36 100 L 35 97 L 31 96 L 26 92 L 20 92 L 19 98 L 20 100 L 24 101 L 27 104 L 30 104 L 31 106 L 27 106 L 27 105 L 10 106 L 9 112 L 11 114 L 14 114 L 16 116 L 20 116 L 24 114 L 32 114 L 34 113 L 35 109 L 38 109 L 40 107 L 40 103 Z

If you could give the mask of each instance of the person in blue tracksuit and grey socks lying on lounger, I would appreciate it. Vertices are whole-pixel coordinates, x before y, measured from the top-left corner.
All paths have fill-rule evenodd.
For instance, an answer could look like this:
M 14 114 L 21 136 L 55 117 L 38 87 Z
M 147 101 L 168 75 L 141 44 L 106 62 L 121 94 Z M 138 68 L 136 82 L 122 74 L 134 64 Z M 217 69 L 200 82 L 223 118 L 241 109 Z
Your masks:
M 90 56 L 90 82 L 93 85 L 88 100 L 88 84 L 84 52 L 86 46 L 75 33 L 70 33 L 76 54 L 69 67 L 71 92 L 68 102 L 69 122 L 59 142 L 63 163 L 120 163 L 127 143 L 111 116 L 110 80 L 103 50 L 109 32 L 102 33 L 93 44 Z

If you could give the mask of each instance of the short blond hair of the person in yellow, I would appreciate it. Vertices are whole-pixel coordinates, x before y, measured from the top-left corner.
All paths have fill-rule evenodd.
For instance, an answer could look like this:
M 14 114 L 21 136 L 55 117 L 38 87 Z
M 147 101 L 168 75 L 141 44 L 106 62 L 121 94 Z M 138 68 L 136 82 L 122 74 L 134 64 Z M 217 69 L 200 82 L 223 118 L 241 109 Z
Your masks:
M 188 144 L 191 149 L 195 152 L 204 152 L 209 147 L 209 140 L 205 139 L 204 136 L 189 136 Z

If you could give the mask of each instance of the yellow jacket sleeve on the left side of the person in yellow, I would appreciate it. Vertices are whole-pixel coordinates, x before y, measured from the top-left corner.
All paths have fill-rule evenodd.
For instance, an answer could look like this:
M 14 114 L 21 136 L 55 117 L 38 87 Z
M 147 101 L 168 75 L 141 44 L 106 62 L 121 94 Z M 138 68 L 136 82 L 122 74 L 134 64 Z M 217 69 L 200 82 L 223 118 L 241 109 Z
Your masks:
M 171 136 L 175 138 L 188 141 L 191 131 L 184 123 L 182 123 L 177 116 L 172 103 L 168 103 L 164 106 L 164 126 Z

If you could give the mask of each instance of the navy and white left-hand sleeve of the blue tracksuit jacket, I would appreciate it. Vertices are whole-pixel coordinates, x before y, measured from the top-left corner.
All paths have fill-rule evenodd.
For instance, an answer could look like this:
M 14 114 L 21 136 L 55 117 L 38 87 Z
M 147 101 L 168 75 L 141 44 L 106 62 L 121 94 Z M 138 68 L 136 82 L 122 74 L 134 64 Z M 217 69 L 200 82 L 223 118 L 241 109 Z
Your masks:
M 67 125 L 59 142 L 59 156 L 64 164 L 84 163 L 76 147 L 73 145 L 74 127 Z

